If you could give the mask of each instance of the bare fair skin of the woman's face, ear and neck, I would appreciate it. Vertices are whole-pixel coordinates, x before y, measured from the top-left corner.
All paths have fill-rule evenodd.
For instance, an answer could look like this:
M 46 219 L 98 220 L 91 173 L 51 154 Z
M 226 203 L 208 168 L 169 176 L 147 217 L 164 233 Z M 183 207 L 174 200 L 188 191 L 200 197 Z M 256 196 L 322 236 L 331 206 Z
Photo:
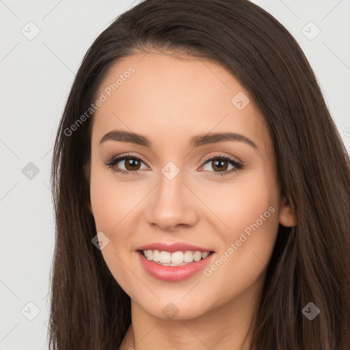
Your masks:
M 252 98 L 241 110 L 231 102 L 238 92 L 249 93 L 230 72 L 193 57 L 125 57 L 113 64 L 98 96 L 129 66 L 135 68 L 133 75 L 94 115 L 90 170 L 90 211 L 96 232 L 109 238 L 101 254 L 131 297 L 132 324 L 120 350 L 248 349 L 250 336 L 241 345 L 258 306 L 278 224 L 296 224 L 280 194 L 267 126 Z M 152 146 L 111 139 L 100 144 L 113 130 L 141 134 Z M 257 148 L 227 140 L 189 144 L 196 135 L 228 131 L 248 137 Z M 105 165 L 130 153 L 144 159 L 138 174 L 120 174 Z M 217 155 L 239 160 L 243 168 L 215 176 L 220 172 L 215 161 L 203 160 Z M 180 171 L 172 180 L 161 172 L 170 161 Z M 230 172 L 234 165 L 223 161 Z M 125 160 L 117 164 L 113 167 L 131 172 Z M 257 221 L 264 213 L 269 217 Z M 244 243 L 235 245 L 237 250 L 211 275 L 202 270 L 178 282 L 159 280 L 135 252 L 146 243 L 186 242 L 215 251 L 213 265 L 257 222 L 258 228 L 245 234 Z M 162 312 L 170 302 L 178 310 L 174 319 Z

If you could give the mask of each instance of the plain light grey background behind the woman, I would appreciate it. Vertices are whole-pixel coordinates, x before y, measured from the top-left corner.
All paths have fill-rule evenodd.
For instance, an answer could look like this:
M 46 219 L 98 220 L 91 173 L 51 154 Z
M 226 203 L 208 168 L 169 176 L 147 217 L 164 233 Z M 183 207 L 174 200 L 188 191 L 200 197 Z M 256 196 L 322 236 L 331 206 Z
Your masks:
M 55 133 L 85 51 L 137 2 L 0 0 L 0 350 L 48 348 Z M 253 2 L 301 45 L 350 150 L 350 1 Z

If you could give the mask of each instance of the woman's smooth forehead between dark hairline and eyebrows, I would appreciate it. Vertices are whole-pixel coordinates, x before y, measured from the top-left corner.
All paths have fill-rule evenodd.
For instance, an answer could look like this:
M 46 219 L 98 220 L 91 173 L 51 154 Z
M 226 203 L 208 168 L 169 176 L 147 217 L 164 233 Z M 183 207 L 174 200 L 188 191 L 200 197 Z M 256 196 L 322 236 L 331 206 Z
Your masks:
M 124 57 L 109 68 L 98 90 L 102 95 L 94 113 L 94 143 L 113 129 L 149 135 L 162 145 L 221 131 L 241 133 L 260 148 L 268 138 L 249 93 L 208 60 L 157 53 Z

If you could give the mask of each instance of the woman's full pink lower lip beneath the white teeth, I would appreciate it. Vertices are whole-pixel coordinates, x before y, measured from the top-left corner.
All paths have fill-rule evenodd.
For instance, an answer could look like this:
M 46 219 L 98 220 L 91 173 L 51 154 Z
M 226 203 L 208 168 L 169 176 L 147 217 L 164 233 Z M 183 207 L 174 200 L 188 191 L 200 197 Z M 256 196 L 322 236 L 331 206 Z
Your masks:
M 194 275 L 198 271 L 204 269 L 204 267 L 211 261 L 214 254 L 209 254 L 206 258 L 199 261 L 189 262 L 186 265 L 181 266 L 163 266 L 157 264 L 152 260 L 145 258 L 142 252 L 137 251 L 144 269 L 152 275 L 154 278 L 167 282 L 176 282 L 185 280 L 191 275 Z

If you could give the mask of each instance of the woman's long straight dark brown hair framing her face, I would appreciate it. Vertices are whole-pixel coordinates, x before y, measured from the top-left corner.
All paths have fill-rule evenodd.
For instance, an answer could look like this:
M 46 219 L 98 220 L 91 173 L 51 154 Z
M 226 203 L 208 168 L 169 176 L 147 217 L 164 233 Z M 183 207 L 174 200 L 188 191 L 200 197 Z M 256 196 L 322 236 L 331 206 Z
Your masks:
M 154 49 L 224 66 L 250 93 L 271 133 L 278 180 L 297 226 L 279 227 L 251 349 L 349 349 L 349 154 L 296 40 L 245 0 L 143 1 L 118 16 L 85 54 L 52 160 L 50 349 L 118 349 L 131 323 L 130 297 L 92 244 L 96 226 L 85 170 L 94 115 L 75 123 L 116 60 Z M 302 312 L 310 302 L 320 310 L 312 321 Z

